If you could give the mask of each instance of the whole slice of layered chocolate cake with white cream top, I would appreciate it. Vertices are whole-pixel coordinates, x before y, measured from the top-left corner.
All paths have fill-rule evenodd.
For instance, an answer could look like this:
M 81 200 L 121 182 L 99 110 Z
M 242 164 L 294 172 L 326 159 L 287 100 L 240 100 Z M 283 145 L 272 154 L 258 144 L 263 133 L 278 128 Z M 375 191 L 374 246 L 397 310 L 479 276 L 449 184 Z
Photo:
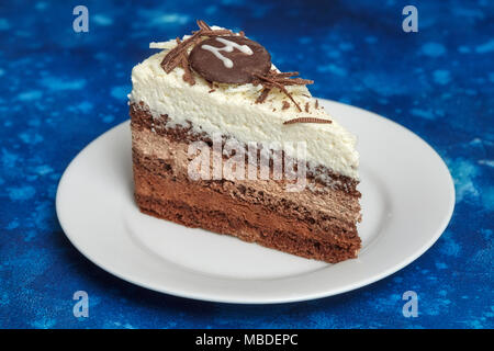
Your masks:
M 310 259 L 357 257 L 356 138 L 259 43 L 198 25 L 132 70 L 141 211 Z

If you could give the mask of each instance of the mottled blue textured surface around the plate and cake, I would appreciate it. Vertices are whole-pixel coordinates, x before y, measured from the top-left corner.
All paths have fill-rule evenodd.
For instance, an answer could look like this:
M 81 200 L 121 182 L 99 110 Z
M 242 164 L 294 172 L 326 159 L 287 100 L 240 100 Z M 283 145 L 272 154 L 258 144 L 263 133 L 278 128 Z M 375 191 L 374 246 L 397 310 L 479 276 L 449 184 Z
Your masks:
M 492 328 L 493 2 L 349 2 L 2 1 L 0 327 Z M 409 3 L 418 33 L 401 27 Z M 77 4 L 89 8 L 89 33 L 72 31 Z M 245 30 L 282 70 L 316 79 L 315 95 L 374 111 L 427 140 L 457 190 L 439 241 L 364 288 L 271 306 L 154 293 L 83 258 L 57 222 L 58 180 L 79 150 L 127 118 L 131 69 L 154 52 L 148 43 L 189 33 L 195 19 Z M 78 290 L 89 293 L 89 318 L 72 316 Z M 402 315 L 407 290 L 418 293 L 418 318 Z

